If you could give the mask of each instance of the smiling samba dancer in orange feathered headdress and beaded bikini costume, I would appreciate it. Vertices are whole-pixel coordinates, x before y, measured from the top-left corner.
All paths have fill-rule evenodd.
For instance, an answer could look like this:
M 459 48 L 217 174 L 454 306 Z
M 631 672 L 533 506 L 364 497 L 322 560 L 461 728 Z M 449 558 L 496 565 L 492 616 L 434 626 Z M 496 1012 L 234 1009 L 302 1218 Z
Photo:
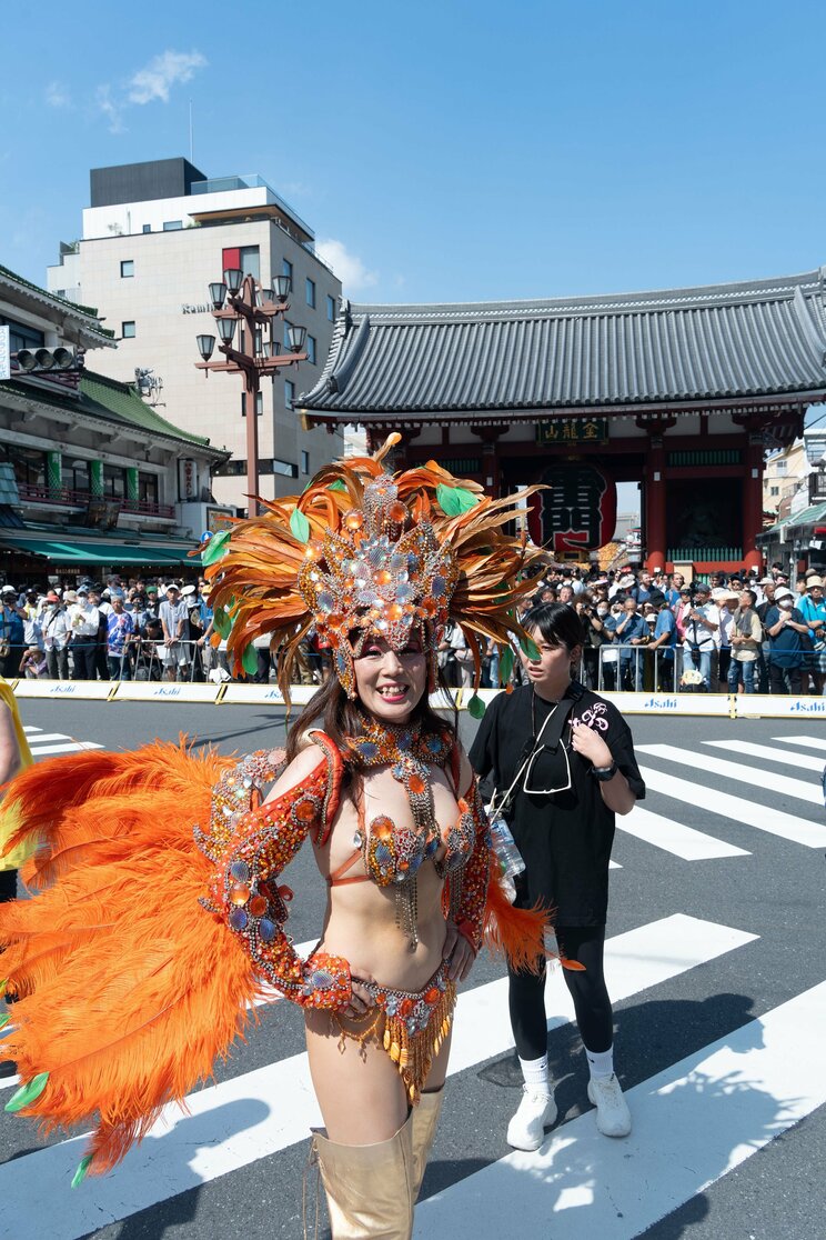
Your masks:
M 12 786 L 41 837 L 30 883 L 47 889 L 0 913 L 21 996 L 10 1105 L 47 1126 L 98 1112 L 77 1182 L 209 1073 L 269 982 L 305 1009 L 333 1236 L 404 1240 L 456 985 L 485 930 L 514 967 L 539 967 L 542 915 L 502 894 L 473 773 L 428 706 L 445 624 L 478 660 L 530 588 L 515 583 L 524 546 L 499 532 L 515 497 L 484 498 L 433 464 L 391 479 L 379 460 L 331 466 L 208 552 L 237 665 L 271 634 L 287 696 L 308 629 L 331 644 L 336 677 L 292 728 L 286 768 L 281 754 L 235 765 L 156 745 L 43 764 Z M 328 900 L 302 960 L 279 878 L 307 836 Z

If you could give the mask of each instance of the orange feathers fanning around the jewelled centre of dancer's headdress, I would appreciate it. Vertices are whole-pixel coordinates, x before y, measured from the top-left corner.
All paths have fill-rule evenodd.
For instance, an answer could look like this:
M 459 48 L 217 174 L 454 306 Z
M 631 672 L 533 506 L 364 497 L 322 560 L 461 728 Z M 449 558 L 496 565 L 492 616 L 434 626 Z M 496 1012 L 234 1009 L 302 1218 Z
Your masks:
M 279 686 L 287 702 L 298 642 L 317 620 L 298 588 L 298 573 L 307 559 L 324 553 L 322 542 L 331 533 L 343 536 L 341 543 L 334 542 L 337 557 L 339 552 L 342 558 L 353 554 L 347 551 L 350 543 L 344 517 L 363 510 L 370 482 L 390 477 L 383 460 L 399 439 L 398 434 L 390 435 L 373 458 L 327 465 L 300 496 L 261 501 L 265 513 L 233 522 L 225 553 L 206 569 L 213 584 L 211 601 L 217 609 L 213 641 L 227 637 L 238 671 L 251 641 L 269 635 L 270 647 L 279 655 Z M 478 482 L 459 480 L 433 460 L 391 477 L 406 508 L 400 531 L 428 522 L 440 546 L 456 562 L 457 582 L 447 616 L 464 632 L 478 683 L 488 640 L 505 645 L 513 632 L 526 636 L 515 606 L 534 588 L 525 574 L 542 553 L 529 547 L 524 537 L 505 533 L 504 527 L 521 516 L 525 500 L 541 487 L 492 500 Z M 422 599 L 415 601 L 421 604 Z

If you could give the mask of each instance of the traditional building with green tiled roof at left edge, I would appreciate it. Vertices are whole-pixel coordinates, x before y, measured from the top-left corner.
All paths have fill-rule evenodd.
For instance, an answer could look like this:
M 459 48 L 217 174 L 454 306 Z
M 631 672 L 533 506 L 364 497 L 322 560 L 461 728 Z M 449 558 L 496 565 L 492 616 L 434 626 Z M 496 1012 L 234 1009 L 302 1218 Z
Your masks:
M 12 355 L 0 377 L 0 573 L 42 584 L 192 565 L 203 531 L 232 515 L 211 492 L 229 454 L 93 368 L 114 351 L 94 310 L 0 268 L 0 327 Z M 71 363 L 26 371 L 21 350 L 64 350 Z

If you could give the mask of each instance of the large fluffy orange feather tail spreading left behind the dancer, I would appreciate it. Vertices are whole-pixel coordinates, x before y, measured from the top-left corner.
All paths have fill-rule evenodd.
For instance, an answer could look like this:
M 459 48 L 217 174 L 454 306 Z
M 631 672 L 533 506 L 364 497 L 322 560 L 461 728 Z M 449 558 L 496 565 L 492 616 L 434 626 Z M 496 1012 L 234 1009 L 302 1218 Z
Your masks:
M 46 889 L 0 906 L 21 996 L 4 1048 L 24 1081 L 48 1073 L 21 1114 L 46 1132 L 94 1126 L 92 1173 L 209 1078 L 250 1019 L 259 985 L 198 903 L 212 864 L 192 836 L 228 763 L 159 743 L 43 763 L 10 785 L 19 835 L 38 836 L 28 880 Z

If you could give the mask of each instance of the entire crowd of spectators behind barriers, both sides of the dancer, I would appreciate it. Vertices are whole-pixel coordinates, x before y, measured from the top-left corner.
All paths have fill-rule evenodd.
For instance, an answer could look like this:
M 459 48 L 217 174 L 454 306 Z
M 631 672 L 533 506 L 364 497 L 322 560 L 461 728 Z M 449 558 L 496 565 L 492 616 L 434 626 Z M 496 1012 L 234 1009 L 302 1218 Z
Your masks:
M 816 570 L 795 588 L 775 564 L 765 575 L 717 573 L 687 583 L 680 573 L 599 573 L 556 567 L 523 601 L 567 603 L 583 630 L 580 677 L 597 691 L 824 693 L 826 601 Z M 77 589 L 0 588 L 0 675 L 51 680 L 232 678 L 225 641 L 213 645 L 209 585 L 178 580 L 107 578 Z M 244 678 L 267 683 L 275 660 L 266 637 L 254 642 L 258 670 Z M 458 626 L 445 631 L 438 661 L 448 683 L 471 686 L 473 653 Z M 317 636 L 302 642 L 301 683 L 329 675 L 329 651 Z M 482 683 L 499 684 L 490 642 Z M 519 660 L 511 673 L 519 678 Z

